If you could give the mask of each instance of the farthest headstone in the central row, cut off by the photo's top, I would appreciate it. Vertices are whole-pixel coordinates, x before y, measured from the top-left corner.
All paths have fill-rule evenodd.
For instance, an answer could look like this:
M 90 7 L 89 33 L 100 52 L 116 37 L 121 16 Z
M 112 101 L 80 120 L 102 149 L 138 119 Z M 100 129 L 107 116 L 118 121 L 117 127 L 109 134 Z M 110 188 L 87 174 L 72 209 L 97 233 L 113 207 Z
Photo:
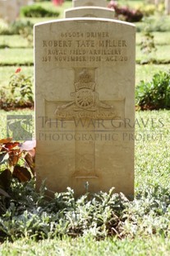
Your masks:
M 73 7 L 107 7 L 106 0 L 73 0 Z

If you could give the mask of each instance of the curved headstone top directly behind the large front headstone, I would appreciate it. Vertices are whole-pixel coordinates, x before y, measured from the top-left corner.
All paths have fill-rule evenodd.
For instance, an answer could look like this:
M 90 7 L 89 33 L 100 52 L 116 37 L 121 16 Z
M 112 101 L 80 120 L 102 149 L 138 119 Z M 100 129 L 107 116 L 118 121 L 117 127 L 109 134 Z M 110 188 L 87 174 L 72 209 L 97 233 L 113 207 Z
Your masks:
M 71 17 L 104 17 L 113 19 L 114 11 L 104 7 L 76 7 L 65 11 L 65 18 Z

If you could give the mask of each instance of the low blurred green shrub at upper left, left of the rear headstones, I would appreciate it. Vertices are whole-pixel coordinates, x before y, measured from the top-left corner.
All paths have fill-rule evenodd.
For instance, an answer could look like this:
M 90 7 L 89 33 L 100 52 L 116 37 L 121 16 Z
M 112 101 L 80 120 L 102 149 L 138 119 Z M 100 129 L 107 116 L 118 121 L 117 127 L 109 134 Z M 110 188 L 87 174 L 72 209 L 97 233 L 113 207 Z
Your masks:
M 58 12 L 53 12 L 38 5 L 30 5 L 21 8 L 23 17 L 58 17 Z

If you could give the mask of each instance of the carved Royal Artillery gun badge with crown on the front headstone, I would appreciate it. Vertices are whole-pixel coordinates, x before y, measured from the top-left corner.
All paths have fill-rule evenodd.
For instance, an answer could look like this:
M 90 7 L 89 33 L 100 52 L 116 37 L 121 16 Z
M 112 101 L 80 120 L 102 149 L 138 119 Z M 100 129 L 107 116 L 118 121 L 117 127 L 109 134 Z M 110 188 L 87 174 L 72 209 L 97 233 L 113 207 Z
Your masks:
M 73 100 L 62 106 L 57 106 L 57 118 L 72 119 L 76 117 L 90 117 L 94 119 L 115 118 L 114 107 L 99 101 L 99 92 L 96 92 L 96 83 L 88 69 L 83 69 L 74 83 L 75 92 L 71 92 Z

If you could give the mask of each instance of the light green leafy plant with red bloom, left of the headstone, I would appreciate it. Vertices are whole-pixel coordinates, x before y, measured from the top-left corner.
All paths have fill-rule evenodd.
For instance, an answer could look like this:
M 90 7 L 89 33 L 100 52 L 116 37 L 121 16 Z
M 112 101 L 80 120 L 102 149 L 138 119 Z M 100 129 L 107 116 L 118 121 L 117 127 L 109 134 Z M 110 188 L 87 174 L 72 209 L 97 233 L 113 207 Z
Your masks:
M 11 81 L 8 87 L 0 91 L 0 105 L 3 109 L 12 107 L 33 107 L 34 95 L 30 77 L 25 77 L 21 73 L 21 68 L 11 75 Z

